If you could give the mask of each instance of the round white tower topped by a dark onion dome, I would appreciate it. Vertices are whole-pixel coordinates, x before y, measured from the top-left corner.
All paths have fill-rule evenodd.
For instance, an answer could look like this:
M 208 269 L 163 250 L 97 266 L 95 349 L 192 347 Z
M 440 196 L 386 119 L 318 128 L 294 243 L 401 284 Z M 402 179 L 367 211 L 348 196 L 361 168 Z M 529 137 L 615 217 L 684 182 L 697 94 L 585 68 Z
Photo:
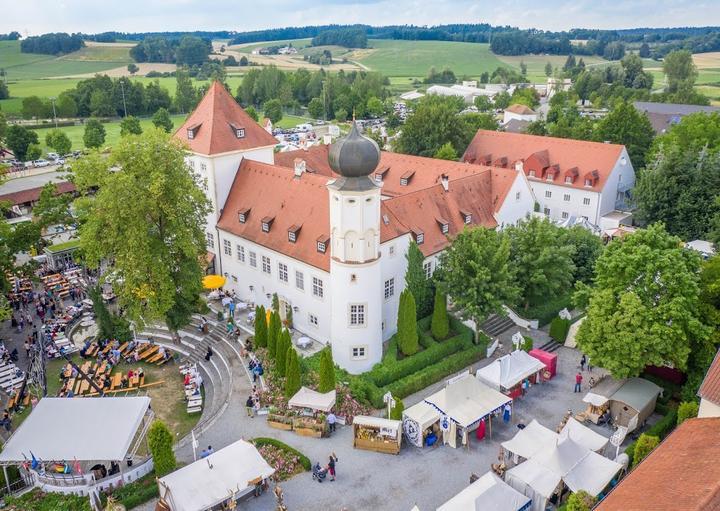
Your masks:
M 352 374 L 369 371 L 382 358 L 380 184 L 369 176 L 380 148 L 353 122 L 330 148 L 330 166 L 340 175 L 328 183 L 333 359 Z

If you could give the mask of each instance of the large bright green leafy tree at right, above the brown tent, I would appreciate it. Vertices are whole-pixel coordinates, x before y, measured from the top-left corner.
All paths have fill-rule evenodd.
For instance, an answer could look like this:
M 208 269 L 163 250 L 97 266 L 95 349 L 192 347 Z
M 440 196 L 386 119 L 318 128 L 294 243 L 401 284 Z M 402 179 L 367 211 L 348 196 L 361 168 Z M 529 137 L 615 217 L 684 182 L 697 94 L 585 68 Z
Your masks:
M 576 293 L 576 303 L 588 304 L 578 346 L 616 378 L 648 365 L 684 370 L 692 339 L 708 335 L 698 313 L 699 272 L 700 257 L 662 224 L 610 243 L 593 287 Z

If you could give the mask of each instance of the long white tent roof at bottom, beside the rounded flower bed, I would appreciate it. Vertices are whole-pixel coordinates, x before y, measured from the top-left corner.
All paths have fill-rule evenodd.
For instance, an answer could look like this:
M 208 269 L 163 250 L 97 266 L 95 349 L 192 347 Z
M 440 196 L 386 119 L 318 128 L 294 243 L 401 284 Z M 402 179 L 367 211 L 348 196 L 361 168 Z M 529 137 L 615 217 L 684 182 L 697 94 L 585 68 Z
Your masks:
M 253 491 L 274 473 L 254 445 L 238 440 L 160 478 L 158 487 L 171 511 L 204 511 Z

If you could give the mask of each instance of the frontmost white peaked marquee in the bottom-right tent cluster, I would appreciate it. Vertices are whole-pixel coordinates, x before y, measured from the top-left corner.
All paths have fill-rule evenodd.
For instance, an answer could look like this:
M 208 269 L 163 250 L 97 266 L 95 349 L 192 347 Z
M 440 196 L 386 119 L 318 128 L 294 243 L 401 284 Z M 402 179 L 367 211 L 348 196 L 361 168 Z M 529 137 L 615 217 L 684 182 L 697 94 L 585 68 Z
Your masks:
M 621 469 L 619 463 L 565 438 L 508 470 L 505 480 L 532 499 L 533 511 L 544 511 L 560 481 L 572 491 L 598 495 Z

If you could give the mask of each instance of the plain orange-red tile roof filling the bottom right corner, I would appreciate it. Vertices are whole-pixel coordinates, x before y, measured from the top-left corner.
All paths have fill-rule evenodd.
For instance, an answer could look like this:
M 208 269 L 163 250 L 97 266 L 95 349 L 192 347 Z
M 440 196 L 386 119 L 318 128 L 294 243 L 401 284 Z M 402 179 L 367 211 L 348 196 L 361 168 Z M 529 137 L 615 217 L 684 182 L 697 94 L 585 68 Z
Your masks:
M 603 499 L 597 511 L 720 509 L 720 418 L 688 419 Z

